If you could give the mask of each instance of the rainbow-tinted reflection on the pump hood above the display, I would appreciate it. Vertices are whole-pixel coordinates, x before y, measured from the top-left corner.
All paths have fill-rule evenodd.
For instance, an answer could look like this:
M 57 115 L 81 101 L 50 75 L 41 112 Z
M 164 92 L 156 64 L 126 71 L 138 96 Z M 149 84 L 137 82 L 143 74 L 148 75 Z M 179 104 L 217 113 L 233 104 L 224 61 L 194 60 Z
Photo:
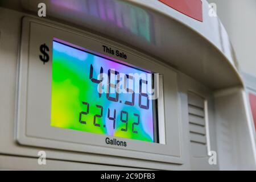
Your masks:
M 114 0 L 51 0 L 51 2 L 53 5 L 75 11 L 70 13 L 79 19 L 85 19 L 85 15 L 89 15 L 100 19 L 102 23 L 111 23 L 113 27 L 123 28 L 147 42 L 155 43 L 151 34 L 151 28 L 154 26 L 150 14 L 130 3 Z

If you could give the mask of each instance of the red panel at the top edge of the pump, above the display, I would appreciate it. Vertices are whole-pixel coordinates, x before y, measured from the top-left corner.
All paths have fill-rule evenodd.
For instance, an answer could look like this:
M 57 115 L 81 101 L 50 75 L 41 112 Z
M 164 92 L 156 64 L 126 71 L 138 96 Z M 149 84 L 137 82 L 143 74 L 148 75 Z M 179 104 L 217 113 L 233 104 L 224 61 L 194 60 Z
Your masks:
M 180 11 L 193 19 L 203 22 L 203 7 L 201 0 L 159 0 L 160 2 Z

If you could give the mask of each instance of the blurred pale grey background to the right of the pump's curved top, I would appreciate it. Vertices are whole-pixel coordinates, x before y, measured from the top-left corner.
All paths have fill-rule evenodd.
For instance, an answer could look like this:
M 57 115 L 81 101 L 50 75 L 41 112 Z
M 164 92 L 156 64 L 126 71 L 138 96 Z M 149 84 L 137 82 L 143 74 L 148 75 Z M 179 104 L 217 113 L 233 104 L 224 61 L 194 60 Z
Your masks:
M 228 32 L 242 72 L 256 77 L 256 1 L 208 0 L 208 2 L 217 5 L 217 15 Z

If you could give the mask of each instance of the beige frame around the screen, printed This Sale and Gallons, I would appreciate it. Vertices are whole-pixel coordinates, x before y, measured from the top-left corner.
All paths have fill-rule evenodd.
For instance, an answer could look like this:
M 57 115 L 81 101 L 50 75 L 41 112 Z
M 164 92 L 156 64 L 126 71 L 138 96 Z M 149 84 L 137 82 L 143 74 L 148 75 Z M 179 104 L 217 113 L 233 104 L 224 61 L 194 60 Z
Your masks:
M 110 146 L 105 143 L 105 135 L 98 136 L 82 131 L 51 127 L 49 119 L 51 115 L 51 97 L 49 96 L 51 96 L 52 64 L 43 66 L 38 57 L 40 55 L 39 47 L 42 43 L 49 45 L 49 49 L 52 50 L 53 38 L 86 47 L 106 57 L 109 55 L 102 51 L 102 45 L 125 51 L 129 59 L 123 61 L 160 73 L 164 78 L 168 78 L 164 79 L 162 77 L 163 82 L 159 83 L 160 88 L 163 88 L 159 91 L 158 103 L 159 113 L 162 115 L 159 118 L 160 143 L 111 137 L 125 140 L 128 144 L 127 147 Z M 51 52 L 49 52 L 49 56 L 52 57 Z M 119 60 L 115 56 L 111 56 L 111 58 Z M 96 155 L 164 163 L 183 163 L 177 73 L 171 67 L 122 44 L 89 32 L 27 17 L 23 18 L 19 65 L 16 116 L 16 140 L 18 143 L 59 150 L 89 152 Z M 38 80 L 40 80 L 40 83 Z M 40 105 L 36 102 L 40 102 Z M 90 139 L 93 139 L 93 141 L 90 141 Z

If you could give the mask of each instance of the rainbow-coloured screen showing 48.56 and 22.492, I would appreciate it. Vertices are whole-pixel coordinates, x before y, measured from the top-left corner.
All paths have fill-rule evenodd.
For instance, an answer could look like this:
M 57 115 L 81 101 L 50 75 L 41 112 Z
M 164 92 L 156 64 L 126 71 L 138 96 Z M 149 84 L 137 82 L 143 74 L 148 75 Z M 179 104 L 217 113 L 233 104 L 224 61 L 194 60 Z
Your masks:
M 54 40 L 51 126 L 156 142 L 148 74 Z

